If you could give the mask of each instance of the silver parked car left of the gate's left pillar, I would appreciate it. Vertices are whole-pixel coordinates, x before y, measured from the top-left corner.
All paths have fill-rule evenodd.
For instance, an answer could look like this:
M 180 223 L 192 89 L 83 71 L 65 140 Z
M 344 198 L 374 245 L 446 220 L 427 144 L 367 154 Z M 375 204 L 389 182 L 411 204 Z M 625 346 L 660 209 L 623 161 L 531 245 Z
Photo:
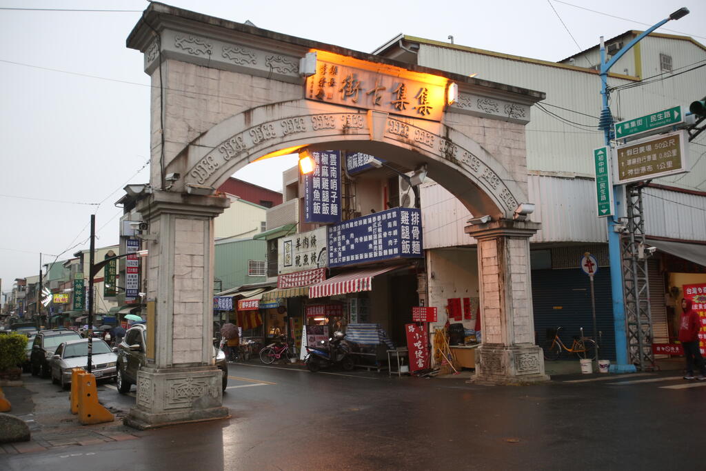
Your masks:
M 115 362 L 117 355 L 108 344 L 99 338 L 93 339 L 92 371 L 96 379 L 115 378 Z M 68 389 L 71 385 L 71 369 L 83 368 L 88 365 L 88 339 L 71 340 L 56 347 L 56 352 L 49 360 L 49 369 L 52 374 L 52 383 L 61 383 L 61 387 Z

